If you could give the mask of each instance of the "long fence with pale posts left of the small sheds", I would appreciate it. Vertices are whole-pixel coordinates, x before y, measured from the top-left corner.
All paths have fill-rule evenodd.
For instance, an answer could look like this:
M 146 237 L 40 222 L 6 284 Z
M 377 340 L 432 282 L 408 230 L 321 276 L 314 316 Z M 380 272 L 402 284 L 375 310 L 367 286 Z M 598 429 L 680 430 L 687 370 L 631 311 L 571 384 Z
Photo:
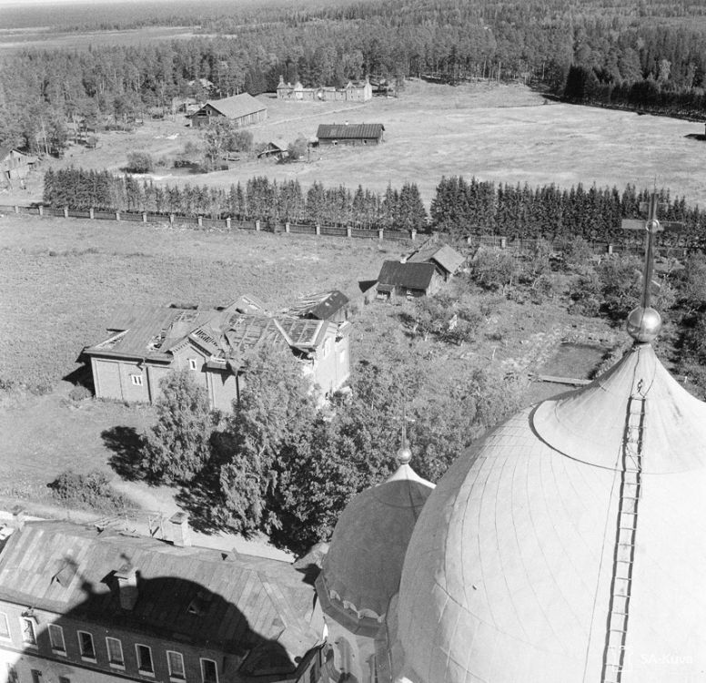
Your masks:
M 232 218 L 210 219 L 205 216 L 182 216 L 179 214 L 161 214 L 154 212 L 111 211 L 98 209 L 55 209 L 41 205 L 25 207 L 18 204 L 9 206 L 0 204 L 0 213 L 30 214 L 33 216 L 92 219 L 124 220 L 134 223 L 169 223 L 170 225 L 189 226 L 220 230 L 255 230 L 260 232 L 285 232 L 298 235 L 322 235 L 325 237 L 358 238 L 366 240 L 416 240 L 416 230 L 360 229 L 350 226 L 309 225 L 298 223 L 272 223 L 261 220 L 237 220 Z

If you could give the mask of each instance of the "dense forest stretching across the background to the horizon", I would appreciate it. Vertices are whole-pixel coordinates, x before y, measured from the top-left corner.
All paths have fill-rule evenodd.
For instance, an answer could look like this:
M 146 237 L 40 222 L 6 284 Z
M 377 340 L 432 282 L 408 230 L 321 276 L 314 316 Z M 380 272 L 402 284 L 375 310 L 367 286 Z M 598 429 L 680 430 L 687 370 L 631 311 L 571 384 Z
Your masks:
M 60 138 L 72 119 L 126 118 L 171 107 L 177 97 L 203 98 L 199 78 L 224 97 L 272 90 L 280 75 L 309 86 L 367 75 L 522 80 L 570 101 L 704 115 L 706 5 L 368 0 L 322 8 L 303 2 L 244 5 L 226 14 L 206 5 L 195 29 L 202 35 L 187 40 L 6 57 L 0 145 L 37 149 L 40 140 Z M 119 25 L 188 19 L 157 13 Z

